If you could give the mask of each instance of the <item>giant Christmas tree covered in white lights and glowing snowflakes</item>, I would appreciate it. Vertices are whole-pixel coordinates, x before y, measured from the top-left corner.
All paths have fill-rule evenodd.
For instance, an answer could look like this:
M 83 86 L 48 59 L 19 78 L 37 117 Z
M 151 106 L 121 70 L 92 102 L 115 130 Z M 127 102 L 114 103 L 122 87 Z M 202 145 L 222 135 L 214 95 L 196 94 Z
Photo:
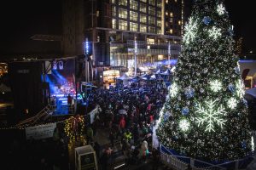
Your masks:
M 206 161 L 230 161 L 253 150 L 233 26 L 222 0 L 195 0 L 166 103 L 160 144 Z

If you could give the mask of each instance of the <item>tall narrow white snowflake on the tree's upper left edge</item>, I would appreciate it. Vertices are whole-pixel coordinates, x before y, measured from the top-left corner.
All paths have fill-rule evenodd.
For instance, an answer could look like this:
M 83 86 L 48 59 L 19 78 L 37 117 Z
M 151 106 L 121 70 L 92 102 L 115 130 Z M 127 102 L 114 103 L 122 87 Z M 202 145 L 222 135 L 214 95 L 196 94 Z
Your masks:
M 189 23 L 185 26 L 185 35 L 183 37 L 183 42 L 186 44 L 189 44 L 190 41 L 193 41 L 195 39 L 195 34 L 197 30 L 197 20 L 195 20 L 193 17 L 189 18 Z

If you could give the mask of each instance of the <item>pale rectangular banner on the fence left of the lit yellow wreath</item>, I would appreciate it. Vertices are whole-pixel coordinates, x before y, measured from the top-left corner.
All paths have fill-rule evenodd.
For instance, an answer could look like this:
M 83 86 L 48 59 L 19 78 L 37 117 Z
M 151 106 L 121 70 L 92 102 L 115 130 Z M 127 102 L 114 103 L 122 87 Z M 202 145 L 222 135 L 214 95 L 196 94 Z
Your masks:
M 47 139 L 52 138 L 56 123 L 26 127 L 26 139 Z

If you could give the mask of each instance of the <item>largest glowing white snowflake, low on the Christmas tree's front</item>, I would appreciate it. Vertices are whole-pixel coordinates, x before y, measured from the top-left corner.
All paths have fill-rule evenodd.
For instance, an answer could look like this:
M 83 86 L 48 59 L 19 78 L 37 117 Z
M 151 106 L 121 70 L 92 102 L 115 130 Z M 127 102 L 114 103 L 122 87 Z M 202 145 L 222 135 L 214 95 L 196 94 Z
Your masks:
M 223 116 L 226 114 L 226 111 L 224 111 L 222 105 L 218 107 L 217 99 L 214 101 L 211 99 L 205 103 L 205 107 L 199 104 L 195 111 L 195 113 L 198 113 L 195 117 L 195 122 L 198 123 L 198 127 L 206 124 L 207 127 L 205 131 L 207 132 L 215 132 L 214 127 L 216 124 L 223 128 L 224 122 L 226 122 Z

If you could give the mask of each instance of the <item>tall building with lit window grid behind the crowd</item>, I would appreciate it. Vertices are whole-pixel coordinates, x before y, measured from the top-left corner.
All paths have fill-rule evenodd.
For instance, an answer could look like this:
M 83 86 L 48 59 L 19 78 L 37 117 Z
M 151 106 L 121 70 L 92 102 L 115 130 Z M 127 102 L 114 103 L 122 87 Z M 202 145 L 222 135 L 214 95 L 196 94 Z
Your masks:
M 137 65 L 177 58 L 184 7 L 184 0 L 64 0 L 64 54 L 83 54 L 88 38 L 96 67 L 133 67 L 135 40 Z

